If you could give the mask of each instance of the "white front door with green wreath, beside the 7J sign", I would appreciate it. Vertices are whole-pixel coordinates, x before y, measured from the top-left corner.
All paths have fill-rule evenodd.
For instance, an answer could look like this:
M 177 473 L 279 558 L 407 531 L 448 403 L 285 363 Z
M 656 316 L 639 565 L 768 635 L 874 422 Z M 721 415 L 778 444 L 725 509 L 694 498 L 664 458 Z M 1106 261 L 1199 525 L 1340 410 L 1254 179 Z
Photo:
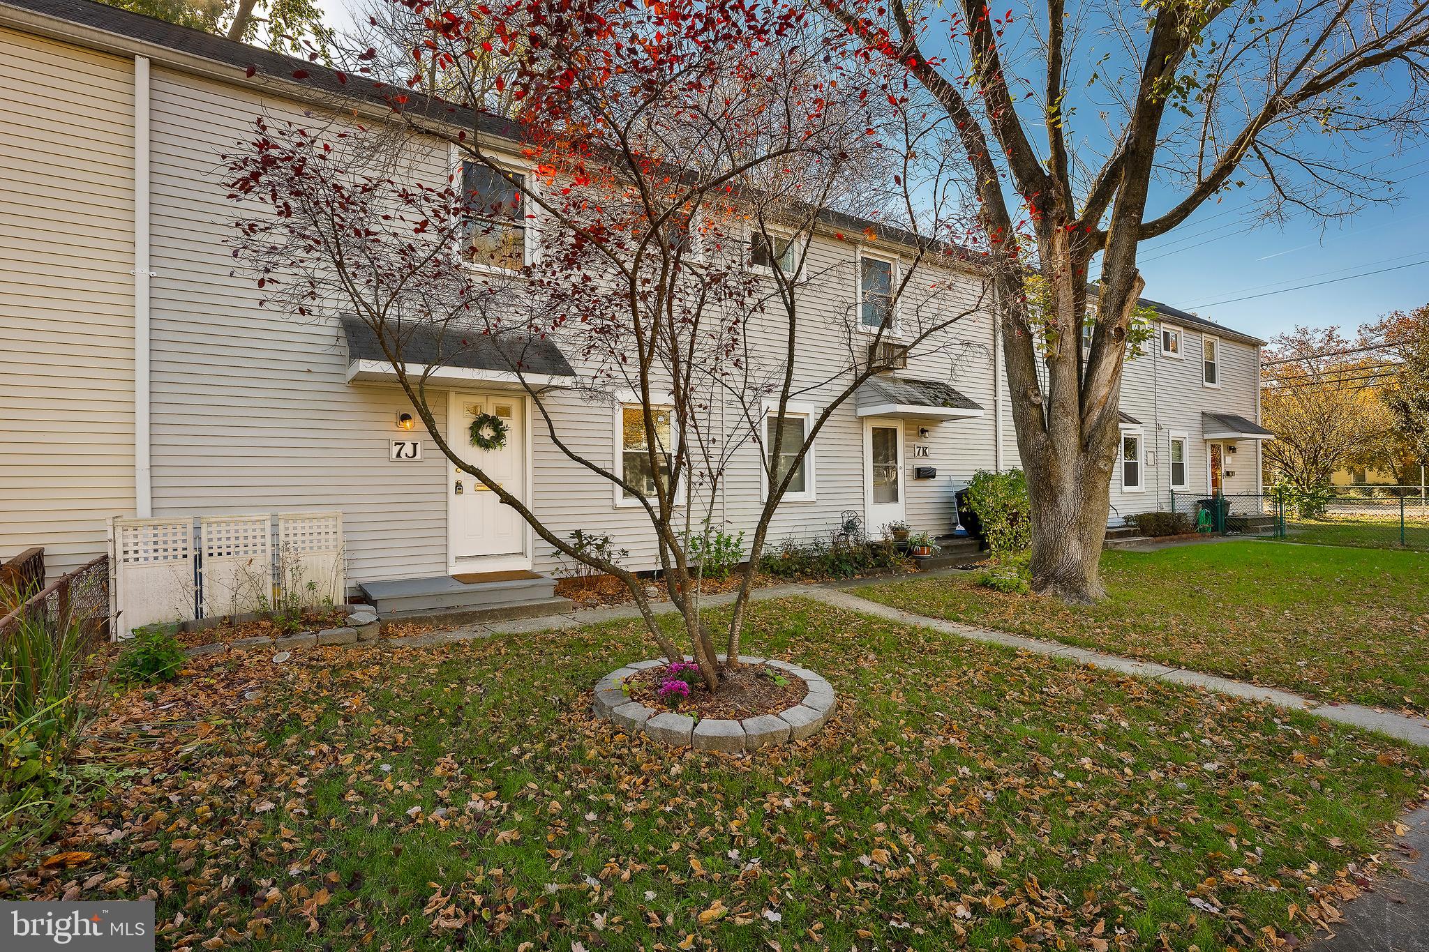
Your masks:
M 506 422 L 504 445 L 496 450 L 472 445 L 472 421 L 480 414 Z M 447 441 L 463 461 L 480 468 L 522 502 L 527 501 L 526 401 L 522 397 L 453 393 L 447 408 Z M 447 472 L 450 569 L 482 572 L 529 567 L 526 521 L 472 474 L 456 465 Z

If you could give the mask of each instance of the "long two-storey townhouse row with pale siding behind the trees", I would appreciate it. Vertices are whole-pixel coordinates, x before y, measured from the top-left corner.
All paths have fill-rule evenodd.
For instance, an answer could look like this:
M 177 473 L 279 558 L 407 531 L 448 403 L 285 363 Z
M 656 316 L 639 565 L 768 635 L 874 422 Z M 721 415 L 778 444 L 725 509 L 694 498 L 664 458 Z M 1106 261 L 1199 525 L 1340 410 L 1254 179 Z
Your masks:
M 399 427 L 410 407 L 360 324 L 263 310 L 230 274 L 220 241 L 236 210 L 217 156 L 257 114 L 302 113 L 304 87 L 272 79 L 294 64 L 87 0 L 0 0 L 0 555 L 44 545 L 53 574 L 103 552 L 113 515 L 340 510 L 350 582 L 556 567 L 492 494 L 457 492 L 430 440 L 422 460 L 393 458 L 393 440 L 422 432 Z M 852 308 L 859 265 L 896 268 L 900 248 L 830 230 L 809 254 L 819 277 L 803 293 Z M 1156 338 L 1126 367 L 1113 521 L 1165 508 L 1172 490 L 1259 488 L 1262 341 L 1155 307 Z M 825 535 L 846 511 L 873 531 L 906 520 L 943 534 L 973 472 L 1019 465 L 992 315 L 953 333 L 969 345 L 956 361 L 915 361 L 830 421 L 775 540 Z M 827 343 L 802 343 L 816 364 Z M 543 360 L 552 384 L 573 373 L 560 353 Z M 644 515 L 550 445 L 499 364 L 457 364 L 434 377 L 450 387 L 443 422 L 472 408 L 512 422 L 483 465 L 557 534 L 613 534 L 652 568 Z M 792 410 L 819 407 L 817 393 L 802 400 Z M 627 411 L 562 405 L 577 447 L 616 467 Z M 750 528 L 762 491 L 757 457 L 742 461 L 716 518 Z

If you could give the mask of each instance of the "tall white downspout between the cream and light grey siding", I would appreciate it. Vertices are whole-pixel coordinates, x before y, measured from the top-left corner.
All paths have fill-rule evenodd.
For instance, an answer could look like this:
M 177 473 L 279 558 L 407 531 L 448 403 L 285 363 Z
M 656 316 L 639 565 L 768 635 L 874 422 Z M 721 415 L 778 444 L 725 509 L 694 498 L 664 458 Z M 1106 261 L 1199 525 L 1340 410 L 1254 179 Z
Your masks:
M 134 512 L 154 514 L 149 448 L 149 57 L 134 57 Z

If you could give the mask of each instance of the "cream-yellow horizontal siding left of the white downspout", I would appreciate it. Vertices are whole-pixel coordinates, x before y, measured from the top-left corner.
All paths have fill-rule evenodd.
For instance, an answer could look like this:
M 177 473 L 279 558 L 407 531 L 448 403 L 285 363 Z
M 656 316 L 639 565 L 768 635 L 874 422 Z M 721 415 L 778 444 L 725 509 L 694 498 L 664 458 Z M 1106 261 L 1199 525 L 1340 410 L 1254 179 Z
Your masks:
M 134 514 L 134 63 L 0 29 L 0 559 Z

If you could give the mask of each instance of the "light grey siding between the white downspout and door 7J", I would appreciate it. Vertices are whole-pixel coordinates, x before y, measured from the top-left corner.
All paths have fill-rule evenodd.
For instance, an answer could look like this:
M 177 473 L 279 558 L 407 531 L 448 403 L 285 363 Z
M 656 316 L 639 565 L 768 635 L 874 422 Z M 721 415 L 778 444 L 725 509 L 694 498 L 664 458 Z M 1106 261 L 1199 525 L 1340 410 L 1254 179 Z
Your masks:
M 229 274 L 239 210 L 219 153 L 260 113 L 300 108 L 161 69 L 150 108 L 154 515 L 340 508 L 350 581 L 444 572 L 447 465 L 397 430 L 406 397 L 349 385 L 334 323 L 262 308 Z M 399 435 L 424 460 L 392 462 Z

